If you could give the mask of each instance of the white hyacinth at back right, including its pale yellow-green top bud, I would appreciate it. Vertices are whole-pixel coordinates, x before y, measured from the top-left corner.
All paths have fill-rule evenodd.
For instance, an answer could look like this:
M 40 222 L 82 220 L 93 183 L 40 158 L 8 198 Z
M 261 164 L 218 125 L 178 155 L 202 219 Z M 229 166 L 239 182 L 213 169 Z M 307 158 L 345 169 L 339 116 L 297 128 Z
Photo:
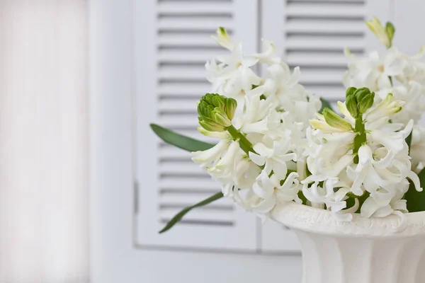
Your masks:
M 425 49 L 421 47 L 419 54 L 408 56 L 391 47 L 394 30 L 389 38 L 378 19 L 374 18 L 367 24 L 387 50 L 371 52 L 368 57 L 357 59 L 346 49 L 348 71 L 344 75 L 344 86 L 366 87 L 375 91 L 378 96 L 375 103 L 385 99 L 387 93 L 392 93 L 405 104 L 400 112 L 392 115 L 391 121 L 407 125 L 413 120 L 416 125 L 425 112 L 425 63 L 421 62 Z M 425 155 L 416 150 L 425 148 L 423 132 L 425 129 L 417 125 L 412 132 L 412 168 L 416 173 L 425 166 Z

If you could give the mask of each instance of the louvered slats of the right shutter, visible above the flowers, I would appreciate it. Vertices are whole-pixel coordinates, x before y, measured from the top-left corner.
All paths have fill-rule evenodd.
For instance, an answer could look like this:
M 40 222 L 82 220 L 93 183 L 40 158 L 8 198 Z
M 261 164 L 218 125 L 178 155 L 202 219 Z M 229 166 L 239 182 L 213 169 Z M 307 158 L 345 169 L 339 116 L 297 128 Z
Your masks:
M 284 7 L 285 59 L 300 66 L 302 83 L 329 100 L 344 98 L 344 47 L 365 53 L 365 2 L 288 0 Z

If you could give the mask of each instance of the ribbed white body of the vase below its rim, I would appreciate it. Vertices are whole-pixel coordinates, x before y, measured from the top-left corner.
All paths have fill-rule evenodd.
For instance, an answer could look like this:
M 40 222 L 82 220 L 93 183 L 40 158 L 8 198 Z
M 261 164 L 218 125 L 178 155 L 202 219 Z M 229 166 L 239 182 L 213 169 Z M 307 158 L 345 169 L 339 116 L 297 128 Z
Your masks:
M 425 238 L 350 238 L 296 231 L 302 283 L 425 283 Z

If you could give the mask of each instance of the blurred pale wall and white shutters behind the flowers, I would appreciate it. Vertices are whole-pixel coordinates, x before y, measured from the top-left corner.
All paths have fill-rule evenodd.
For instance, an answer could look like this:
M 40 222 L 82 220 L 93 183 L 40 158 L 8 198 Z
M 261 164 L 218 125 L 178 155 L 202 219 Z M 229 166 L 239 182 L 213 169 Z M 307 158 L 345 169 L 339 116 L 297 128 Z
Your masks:
M 300 282 L 293 233 L 222 200 L 159 235 L 220 188 L 149 122 L 197 133 L 205 61 L 224 26 L 246 52 L 273 40 L 301 83 L 344 98 L 343 48 L 425 43 L 414 0 L 1 0 L 0 282 Z M 256 71 L 262 74 L 261 68 Z M 210 140 L 208 140 L 210 141 Z

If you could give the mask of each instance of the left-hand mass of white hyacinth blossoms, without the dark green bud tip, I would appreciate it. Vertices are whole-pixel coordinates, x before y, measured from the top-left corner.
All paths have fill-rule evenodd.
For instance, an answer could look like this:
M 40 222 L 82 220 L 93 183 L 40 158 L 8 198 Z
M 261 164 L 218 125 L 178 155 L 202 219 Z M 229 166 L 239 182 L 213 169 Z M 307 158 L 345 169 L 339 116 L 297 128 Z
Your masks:
M 300 69 L 293 72 L 276 57 L 273 42 L 264 40 L 265 52 L 246 56 L 242 43 L 234 44 L 223 28 L 216 42 L 229 50 L 205 65 L 212 92 L 237 101 L 232 124 L 247 141 L 229 132 L 200 132 L 222 140 L 207 151 L 193 153 L 222 184 L 222 192 L 243 207 L 267 213 L 278 202 L 302 202 L 299 178 L 305 178 L 305 128 L 322 103 L 298 83 Z M 258 76 L 253 67 L 266 66 L 267 77 Z M 237 133 L 237 134 L 238 134 Z M 302 166 L 304 164 L 304 166 Z M 297 167 L 301 169 L 298 170 Z

